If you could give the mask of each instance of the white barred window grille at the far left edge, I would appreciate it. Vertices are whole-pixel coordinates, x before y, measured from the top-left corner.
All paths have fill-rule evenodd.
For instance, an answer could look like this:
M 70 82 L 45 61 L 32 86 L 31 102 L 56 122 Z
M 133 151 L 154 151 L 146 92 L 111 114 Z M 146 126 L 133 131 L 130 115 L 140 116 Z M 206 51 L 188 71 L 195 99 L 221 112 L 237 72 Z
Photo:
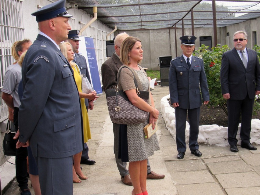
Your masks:
M 24 38 L 22 2 L 19 0 L 1 0 L 0 14 L 0 89 L 3 86 L 7 67 L 14 63 L 11 47 L 14 42 Z M 0 97 L 0 122 L 8 118 L 8 107 Z

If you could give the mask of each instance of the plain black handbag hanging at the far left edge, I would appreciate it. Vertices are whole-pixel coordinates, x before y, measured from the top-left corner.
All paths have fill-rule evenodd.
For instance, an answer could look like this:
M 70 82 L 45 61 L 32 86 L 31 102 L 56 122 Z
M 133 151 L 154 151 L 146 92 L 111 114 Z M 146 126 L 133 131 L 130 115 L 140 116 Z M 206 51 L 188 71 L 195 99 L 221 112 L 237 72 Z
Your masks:
M 5 156 L 16 156 L 16 143 L 18 139 L 13 139 L 16 131 L 15 129 L 11 129 L 10 123 L 11 122 L 8 121 L 6 125 L 6 132 L 3 140 L 3 150 Z

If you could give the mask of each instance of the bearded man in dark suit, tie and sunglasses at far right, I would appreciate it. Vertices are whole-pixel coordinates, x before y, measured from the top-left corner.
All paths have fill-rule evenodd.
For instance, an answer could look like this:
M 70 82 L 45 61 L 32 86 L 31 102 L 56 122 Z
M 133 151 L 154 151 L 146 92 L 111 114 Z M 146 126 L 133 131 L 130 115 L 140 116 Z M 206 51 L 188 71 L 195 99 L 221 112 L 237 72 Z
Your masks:
M 228 142 L 231 152 L 238 152 L 237 130 L 241 112 L 241 147 L 257 150 L 250 143 L 251 119 L 255 95 L 260 94 L 260 66 L 257 53 L 246 48 L 247 33 L 233 35 L 234 48 L 222 55 L 220 82 L 228 106 Z

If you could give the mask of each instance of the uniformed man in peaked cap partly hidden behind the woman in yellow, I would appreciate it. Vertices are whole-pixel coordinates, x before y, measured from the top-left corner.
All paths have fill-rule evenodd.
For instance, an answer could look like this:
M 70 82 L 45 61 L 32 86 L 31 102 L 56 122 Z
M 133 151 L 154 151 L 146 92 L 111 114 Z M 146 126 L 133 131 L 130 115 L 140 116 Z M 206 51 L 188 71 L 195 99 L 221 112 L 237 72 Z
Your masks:
M 86 58 L 84 56 L 78 54 L 78 47 L 79 47 L 79 41 L 80 41 L 78 34 L 79 34 L 79 30 L 69 31 L 67 42 L 69 42 L 72 45 L 72 49 L 73 49 L 73 52 L 74 52 L 74 60 L 73 61 L 76 64 L 78 64 L 81 74 L 85 74 L 86 77 L 88 78 L 88 81 L 91 84 Z M 87 98 L 85 98 L 85 105 L 86 105 L 87 111 L 88 111 L 88 109 L 93 110 L 93 108 L 94 108 L 93 101 L 88 101 Z M 88 164 L 88 165 L 92 165 L 92 164 L 96 163 L 96 161 L 89 159 L 87 143 L 84 143 L 84 150 L 82 151 L 80 163 L 81 164 Z

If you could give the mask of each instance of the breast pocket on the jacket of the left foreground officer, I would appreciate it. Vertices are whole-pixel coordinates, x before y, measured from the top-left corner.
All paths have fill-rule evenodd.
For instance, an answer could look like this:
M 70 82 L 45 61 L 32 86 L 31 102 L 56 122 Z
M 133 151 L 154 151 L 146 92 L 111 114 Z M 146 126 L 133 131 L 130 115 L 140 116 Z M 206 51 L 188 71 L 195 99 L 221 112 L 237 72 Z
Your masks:
M 70 93 L 76 89 L 76 84 L 73 79 L 73 73 L 70 71 L 70 68 L 61 70 L 62 73 L 62 92 Z

